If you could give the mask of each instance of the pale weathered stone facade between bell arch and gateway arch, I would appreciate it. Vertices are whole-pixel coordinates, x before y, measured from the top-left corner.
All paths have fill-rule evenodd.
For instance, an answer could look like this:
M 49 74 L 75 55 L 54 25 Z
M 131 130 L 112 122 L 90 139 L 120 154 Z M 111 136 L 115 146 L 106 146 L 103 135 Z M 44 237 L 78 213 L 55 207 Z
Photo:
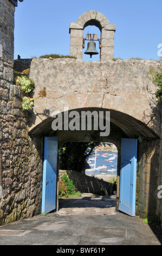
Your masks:
M 56 110 L 63 112 L 64 107 L 111 108 L 144 124 L 149 123 L 149 127 L 159 135 L 159 110 L 155 97 L 152 101 L 150 96 L 153 95 L 149 90 L 155 90 L 155 86 L 147 78 L 150 65 L 155 68 L 157 64 L 152 60 L 134 59 L 94 63 L 77 62 L 75 59 L 55 59 L 52 62 L 34 59 L 30 69 L 30 77 L 36 84 L 34 96 L 37 96 L 43 86 L 47 89 L 47 98 L 35 102 L 35 111 L 41 117 L 39 119 L 37 115 L 37 119 L 41 121 L 47 118 L 43 114 L 44 107 L 48 109 L 49 115 Z M 154 114 L 155 118 L 152 119 Z

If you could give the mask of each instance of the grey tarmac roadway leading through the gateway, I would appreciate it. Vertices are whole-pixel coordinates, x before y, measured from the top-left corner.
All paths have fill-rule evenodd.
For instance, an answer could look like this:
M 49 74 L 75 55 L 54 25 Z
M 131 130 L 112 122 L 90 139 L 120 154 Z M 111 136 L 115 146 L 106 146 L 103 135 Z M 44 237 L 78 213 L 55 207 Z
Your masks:
M 161 245 L 147 223 L 116 212 L 115 202 L 115 196 L 90 194 L 59 200 L 57 212 L 1 226 L 0 245 Z

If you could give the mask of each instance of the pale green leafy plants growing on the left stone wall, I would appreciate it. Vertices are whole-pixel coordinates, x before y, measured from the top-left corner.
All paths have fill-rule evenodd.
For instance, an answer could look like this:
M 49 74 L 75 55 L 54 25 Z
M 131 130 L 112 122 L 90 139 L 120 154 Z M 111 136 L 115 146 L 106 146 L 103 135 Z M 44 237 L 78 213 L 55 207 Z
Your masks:
M 43 87 L 43 89 L 40 90 L 37 97 L 31 98 L 28 96 L 28 93 L 30 93 L 35 88 L 34 81 L 30 80 L 29 77 L 27 77 L 29 75 L 29 71 L 30 69 L 24 70 L 22 72 L 14 71 L 14 81 L 17 86 L 21 87 L 21 91 L 24 94 L 22 98 L 23 111 L 29 111 L 33 109 L 34 100 L 40 97 L 46 97 L 46 87 Z

